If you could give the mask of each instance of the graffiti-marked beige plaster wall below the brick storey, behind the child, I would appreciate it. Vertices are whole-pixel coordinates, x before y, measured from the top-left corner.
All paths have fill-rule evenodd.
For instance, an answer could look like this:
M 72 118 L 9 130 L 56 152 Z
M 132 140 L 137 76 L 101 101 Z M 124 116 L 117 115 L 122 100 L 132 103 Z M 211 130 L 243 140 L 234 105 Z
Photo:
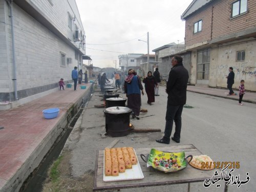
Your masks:
M 245 60 L 237 61 L 237 51 L 245 50 Z M 256 40 L 223 45 L 211 50 L 210 87 L 226 87 L 229 67 L 233 68 L 233 88 L 238 89 L 240 80 L 245 80 L 246 90 L 256 91 Z

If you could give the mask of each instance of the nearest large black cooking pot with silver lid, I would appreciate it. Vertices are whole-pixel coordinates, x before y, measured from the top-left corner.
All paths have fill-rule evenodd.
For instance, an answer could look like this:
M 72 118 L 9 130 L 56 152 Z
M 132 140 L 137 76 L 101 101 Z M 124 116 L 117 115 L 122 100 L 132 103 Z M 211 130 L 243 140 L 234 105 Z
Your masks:
M 123 137 L 129 134 L 130 114 L 132 110 L 125 106 L 112 106 L 106 108 L 105 128 L 106 133 L 111 137 Z

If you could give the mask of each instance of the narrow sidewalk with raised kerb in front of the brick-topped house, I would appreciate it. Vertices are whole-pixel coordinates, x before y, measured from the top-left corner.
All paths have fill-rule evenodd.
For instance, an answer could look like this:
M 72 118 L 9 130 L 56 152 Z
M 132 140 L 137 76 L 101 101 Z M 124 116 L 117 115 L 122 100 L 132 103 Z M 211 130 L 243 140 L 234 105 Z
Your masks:
M 217 89 L 217 88 L 207 88 L 207 87 L 200 87 L 200 86 L 187 86 L 187 91 L 205 94 L 205 95 L 211 95 L 216 97 L 222 97 L 226 99 L 232 99 L 232 100 L 239 100 L 239 91 L 234 91 L 238 95 L 227 95 L 228 90 L 226 89 Z M 242 102 L 249 102 L 249 103 L 256 103 L 256 93 L 252 92 L 246 92 L 243 97 Z

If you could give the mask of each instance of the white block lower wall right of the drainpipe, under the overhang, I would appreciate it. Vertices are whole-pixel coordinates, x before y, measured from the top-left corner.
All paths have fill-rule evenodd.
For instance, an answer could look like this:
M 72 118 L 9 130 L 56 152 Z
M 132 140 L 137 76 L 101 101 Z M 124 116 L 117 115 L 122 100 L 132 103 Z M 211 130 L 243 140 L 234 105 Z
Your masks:
M 59 78 L 71 80 L 71 71 L 77 66 L 75 51 L 15 4 L 13 19 L 17 89 L 43 86 Z M 60 52 L 66 54 L 66 67 L 60 65 Z M 67 64 L 67 57 L 73 63 Z

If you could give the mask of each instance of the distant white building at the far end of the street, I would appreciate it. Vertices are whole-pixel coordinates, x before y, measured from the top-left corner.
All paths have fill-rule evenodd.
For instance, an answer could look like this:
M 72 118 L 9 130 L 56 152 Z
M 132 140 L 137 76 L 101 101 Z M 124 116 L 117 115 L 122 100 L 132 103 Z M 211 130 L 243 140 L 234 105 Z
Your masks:
M 129 53 L 129 54 L 118 55 L 119 67 L 121 67 L 122 71 L 126 71 L 127 68 L 137 67 L 137 62 L 135 59 L 142 55 L 144 55 L 144 54 Z

